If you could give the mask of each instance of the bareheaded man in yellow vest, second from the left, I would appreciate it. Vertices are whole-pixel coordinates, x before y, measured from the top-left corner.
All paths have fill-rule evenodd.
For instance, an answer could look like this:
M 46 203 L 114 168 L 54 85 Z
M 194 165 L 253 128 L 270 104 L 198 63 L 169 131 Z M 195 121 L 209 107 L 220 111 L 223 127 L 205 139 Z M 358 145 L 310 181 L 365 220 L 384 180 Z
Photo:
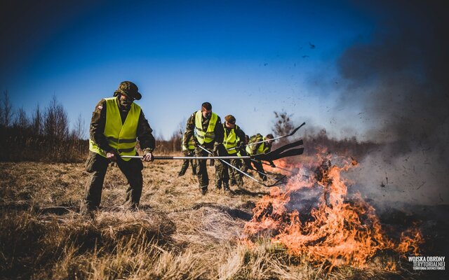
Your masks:
M 223 125 L 222 121 L 216 113 L 212 112 L 212 105 L 209 102 L 201 104 L 201 109 L 192 113 L 187 120 L 186 130 L 184 134 L 184 146 L 188 147 L 188 139 L 193 137 L 195 155 L 199 157 L 207 157 L 208 153 L 199 148 L 206 148 L 213 151 L 215 155 L 225 155 L 225 147 L 223 146 Z M 194 160 L 194 168 L 196 176 L 198 176 L 199 188 L 201 193 L 206 195 L 209 185 L 208 170 L 206 160 Z

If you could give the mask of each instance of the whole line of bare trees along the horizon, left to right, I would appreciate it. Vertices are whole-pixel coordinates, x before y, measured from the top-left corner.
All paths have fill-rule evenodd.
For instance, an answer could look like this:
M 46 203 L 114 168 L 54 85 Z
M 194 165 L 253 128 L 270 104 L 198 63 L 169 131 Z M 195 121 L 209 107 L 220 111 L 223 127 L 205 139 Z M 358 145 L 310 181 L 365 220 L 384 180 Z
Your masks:
M 295 126 L 293 114 L 274 111 L 273 134 L 282 136 L 290 134 Z M 181 139 L 185 130 L 182 121 L 169 139 L 156 135 L 156 150 L 159 154 L 181 151 Z M 351 139 L 330 139 L 325 130 L 318 133 L 302 132 L 306 154 L 316 152 L 316 147 L 327 147 L 340 153 L 361 155 L 372 143 L 359 143 Z M 88 155 L 88 135 L 81 114 L 69 130 L 69 118 L 64 106 L 53 95 L 49 104 L 36 108 L 30 115 L 23 107 L 14 108 L 8 91 L 4 91 L 0 102 L 0 161 L 47 161 L 47 162 L 81 162 Z M 299 135 L 298 135 L 299 136 Z M 296 136 L 295 136 L 296 137 Z M 276 146 L 286 144 L 290 139 L 281 139 Z M 140 151 L 139 146 L 137 146 Z

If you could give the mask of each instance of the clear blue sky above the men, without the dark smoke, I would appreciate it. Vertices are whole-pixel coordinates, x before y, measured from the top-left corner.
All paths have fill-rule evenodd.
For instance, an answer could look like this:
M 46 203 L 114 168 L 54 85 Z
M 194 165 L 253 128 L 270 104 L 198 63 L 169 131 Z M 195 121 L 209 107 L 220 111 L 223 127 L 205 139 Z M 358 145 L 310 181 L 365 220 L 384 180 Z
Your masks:
M 166 138 L 206 101 L 247 134 L 270 132 L 281 110 L 337 136 L 363 126 L 357 108 L 335 116 L 336 61 L 375 29 L 373 14 L 354 2 L 20 2 L 1 12 L 0 89 L 15 108 L 31 112 L 55 94 L 69 120 L 81 113 L 87 128 L 95 104 L 131 80 Z

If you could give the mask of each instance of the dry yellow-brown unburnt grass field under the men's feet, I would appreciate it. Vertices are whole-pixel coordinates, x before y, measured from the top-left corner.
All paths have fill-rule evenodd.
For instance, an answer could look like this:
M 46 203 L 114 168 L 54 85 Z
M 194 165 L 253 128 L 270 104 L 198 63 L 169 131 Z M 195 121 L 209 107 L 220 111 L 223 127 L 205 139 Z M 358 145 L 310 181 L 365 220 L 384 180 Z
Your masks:
M 201 195 L 181 161 L 146 163 L 140 210 L 126 211 L 126 179 L 109 167 L 102 208 L 78 214 L 89 174 L 83 164 L 0 163 L 1 279 L 419 279 L 401 268 L 329 271 L 270 239 L 248 244 L 245 224 L 269 188 L 245 180 L 232 194 Z

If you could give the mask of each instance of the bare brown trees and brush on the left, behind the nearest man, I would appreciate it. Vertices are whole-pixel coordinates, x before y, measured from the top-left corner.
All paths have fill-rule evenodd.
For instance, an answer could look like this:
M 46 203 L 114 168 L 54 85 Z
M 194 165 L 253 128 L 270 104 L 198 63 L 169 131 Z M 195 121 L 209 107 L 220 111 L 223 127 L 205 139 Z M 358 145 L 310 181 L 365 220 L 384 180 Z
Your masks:
M 81 114 L 72 129 L 64 106 L 55 95 L 47 106 L 36 105 L 32 113 L 14 108 L 8 91 L 0 102 L 0 161 L 81 162 L 88 155 L 88 135 Z M 170 139 L 156 136 L 159 153 L 181 150 L 182 130 Z M 139 150 L 139 146 L 138 146 Z

